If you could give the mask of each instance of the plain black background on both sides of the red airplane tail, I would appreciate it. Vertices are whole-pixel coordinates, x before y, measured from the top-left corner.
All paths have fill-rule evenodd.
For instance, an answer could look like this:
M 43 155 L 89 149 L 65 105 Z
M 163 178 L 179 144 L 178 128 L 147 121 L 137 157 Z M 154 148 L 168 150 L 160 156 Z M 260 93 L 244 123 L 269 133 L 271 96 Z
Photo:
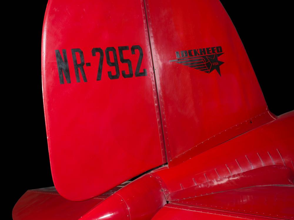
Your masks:
M 294 109 L 290 6 L 264 1 L 221 1 L 253 65 L 270 111 Z M 27 189 L 52 186 L 41 87 L 41 34 L 46 1 L 22 2 L 10 12 L 2 42 L 7 70 L 2 75 L 4 124 L 2 154 L 9 212 Z M 10 18 L 7 18 L 9 20 Z M 7 23 L 7 22 L 6 22 Z M 2 51 L 2 55 L 5 55 Z M 2 69 L 3 71 L 3 69 Z M 8 158 L 6 158 L 8 155 Z

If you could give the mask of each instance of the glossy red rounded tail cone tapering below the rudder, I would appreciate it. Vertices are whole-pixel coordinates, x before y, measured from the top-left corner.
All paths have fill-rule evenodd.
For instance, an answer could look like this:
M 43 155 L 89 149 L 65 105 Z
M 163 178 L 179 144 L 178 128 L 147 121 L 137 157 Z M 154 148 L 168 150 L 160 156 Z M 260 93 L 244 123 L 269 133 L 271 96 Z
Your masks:
M 146 174 L 117 191 L 82 219 L 148 220 L 165 204 L 160 184 L 155 177 Z

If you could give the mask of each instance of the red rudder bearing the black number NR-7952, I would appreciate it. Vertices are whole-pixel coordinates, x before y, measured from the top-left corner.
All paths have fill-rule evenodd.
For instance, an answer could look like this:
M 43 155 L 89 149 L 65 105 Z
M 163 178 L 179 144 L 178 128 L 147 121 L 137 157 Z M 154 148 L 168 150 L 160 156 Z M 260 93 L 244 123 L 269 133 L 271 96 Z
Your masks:
M 56 1 L 50 0 L 44 18 L 42 41 L 42 79 L 51 172 L 58 192 L 70 200 L 84 200 L 99 195 L 132 177 L 166 163 L 155 78 L 148 40 L 144 4 L 141 1 Z M 143 58 L 135 76 L 139 49 Z M 128 63 L 132 63 L 133 77 Z M 115 75 L 113 51 L 118 59 L 120 76 Z M 86 79 L 76 63 L 82 62 Z M 100 50 L 103 50 L 101 80 L 97 81 Z M 126 49 L 126 48 L 125 48 Z M 57 50 L 57 51 L 56 51 Z M 67 55 L 71 83 L 66 67 L 61 79 L 61 63 Z M 113 49 L 111 49 L 113 50 Z M 74 50 L 78 51 L 78 50 Z M 57 53 L 57 55 L 56 55 Z M 102 53 L 102 52 L 101 52 Z M 127 62 L 127 61 L 124 61 Z M 65 64 L 63 64 L 65 65 Z M 60 69 L 62 65 L 59 65 Z M 110 76 L 112 77 L 112 76 Z M 127 77 L 127 76 L 126 76 Z M 87 81 L 87 82 L 85 82 Z M 77 190 L 78 189 L 78 190 Z

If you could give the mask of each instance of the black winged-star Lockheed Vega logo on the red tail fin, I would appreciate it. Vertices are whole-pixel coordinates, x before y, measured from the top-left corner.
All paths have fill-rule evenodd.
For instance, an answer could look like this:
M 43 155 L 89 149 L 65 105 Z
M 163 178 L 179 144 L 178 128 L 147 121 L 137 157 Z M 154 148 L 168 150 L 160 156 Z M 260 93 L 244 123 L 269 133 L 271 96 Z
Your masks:
M 224 62 L 218 60 L 218 57 L 223 54 L 223 49 L 220 46 L 182 50 L 181 52 L 176 51 L 177 59 L 170 60 L 169 62 L 177 62 L 206 73 L 211 73 L 213 70 L 216 70 L 220 75 L 220 65 Z

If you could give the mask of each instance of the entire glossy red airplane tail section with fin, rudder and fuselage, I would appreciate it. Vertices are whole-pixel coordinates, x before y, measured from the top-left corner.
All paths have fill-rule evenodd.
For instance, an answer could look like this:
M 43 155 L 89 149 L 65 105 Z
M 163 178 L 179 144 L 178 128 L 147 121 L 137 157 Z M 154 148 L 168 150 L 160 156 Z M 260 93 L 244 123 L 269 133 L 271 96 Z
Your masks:
M 15 220 L 293 218 L 294 111 L 268 111 L 219 1 L 50 0 L 43 28 L 60 194 L 26 192 Z

